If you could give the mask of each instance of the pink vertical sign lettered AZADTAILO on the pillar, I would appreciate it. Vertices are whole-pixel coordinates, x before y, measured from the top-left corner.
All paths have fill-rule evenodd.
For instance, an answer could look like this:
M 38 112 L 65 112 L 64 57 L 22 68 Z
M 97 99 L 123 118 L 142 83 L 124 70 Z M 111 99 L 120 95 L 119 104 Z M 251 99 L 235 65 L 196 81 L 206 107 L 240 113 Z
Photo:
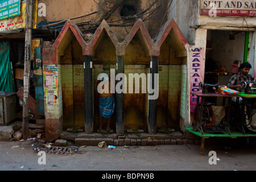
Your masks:
M 202 93 L 199 89 L 199 83 L 204 81 L 205 62 L 203 59 L 204 49 L 200 47 L 189 48 L 189 78 L 190 92 Z M 190 96 L 190 110 L 195 113 L 197 104 L 197 96 Z

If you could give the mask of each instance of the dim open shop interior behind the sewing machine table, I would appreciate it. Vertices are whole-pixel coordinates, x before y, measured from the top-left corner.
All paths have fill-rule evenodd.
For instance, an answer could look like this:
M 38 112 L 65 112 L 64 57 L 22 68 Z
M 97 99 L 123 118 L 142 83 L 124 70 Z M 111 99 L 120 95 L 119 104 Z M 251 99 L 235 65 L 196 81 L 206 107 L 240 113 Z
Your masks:
M 228 85 L 245 57 L 245 31 L 208 30 L 204 84 Z M 216 98 L 208 100 L 221 105 Z

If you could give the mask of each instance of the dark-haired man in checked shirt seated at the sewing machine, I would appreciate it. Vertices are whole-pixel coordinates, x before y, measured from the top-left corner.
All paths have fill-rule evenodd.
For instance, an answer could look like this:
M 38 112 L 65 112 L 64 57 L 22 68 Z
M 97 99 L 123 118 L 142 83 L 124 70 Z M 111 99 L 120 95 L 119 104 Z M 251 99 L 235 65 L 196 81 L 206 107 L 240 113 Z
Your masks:
M 251 76 L 249 74 L 251 69 L 251 64 L 250 63 L 242 63 L 240 66 L 240 72 L 236 73 L 235 75 L 233 75 L 228 83 L 228 88 L 230 89 L 234 89 L 237 90 L 239 92 L 244 92 L 244 89 L 242 89 L 241 87 L 241 82 L 245 81 L 245 82 L 254 82 L 254 77 Z M 232 98 L 233 102 L 236 102 L 236 97 Z M 242 98 L 239 98 L 239 104 L 242 103 Z M 255 114 L 255 110 L 254 110 L 254 105 L 256 104 L 255 99 L 248 99 L 246 100 L 246 106 L 250 106 L 250 109 L 247 110 L 247 112 L 251 112 L 250 114 L 250 118 L 251 119 L 251 115 L 253 115 L 253 118 L 251 119 L 251 123 L 250 123 L 250 127 L 255 128 L 256 127 L 256 114 Z

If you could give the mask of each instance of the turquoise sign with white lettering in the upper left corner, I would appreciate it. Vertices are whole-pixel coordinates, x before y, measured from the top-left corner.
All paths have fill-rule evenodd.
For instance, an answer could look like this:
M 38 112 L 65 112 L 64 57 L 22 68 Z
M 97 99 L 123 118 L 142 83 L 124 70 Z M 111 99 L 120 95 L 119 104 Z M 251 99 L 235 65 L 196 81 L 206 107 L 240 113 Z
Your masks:
M 0 20 L 18 16 L 20 14 L 20 0 L 0 1 Z

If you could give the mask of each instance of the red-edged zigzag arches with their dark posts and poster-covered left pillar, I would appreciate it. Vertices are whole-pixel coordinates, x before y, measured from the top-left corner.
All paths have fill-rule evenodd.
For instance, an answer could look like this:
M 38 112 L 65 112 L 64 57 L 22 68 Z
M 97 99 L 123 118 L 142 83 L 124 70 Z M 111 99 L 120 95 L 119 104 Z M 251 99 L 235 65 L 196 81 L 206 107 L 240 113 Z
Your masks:
M 93 56 L 97 54 L 96 50 L 100 43 L 102 43 L 102 38 L 108 38 L 115 48 L 115 57 L 117 64 L 117 74 L 125 73 L 125 53 L 129 44 L 136 37 L 136 40 L 139 41 L 141 47 L 144 51 L 144 55 L 150 57 L 150 73 L 154 75 L 159 71 L 159 56 L 161 54 L 161 47 L 166 42 L 168 46 L 174 51 L 175 57 L 180 60 L 180 64 L 187 64 L 187 47 L 189 46 L 184 36 L 182 35 L 179 27 L 175 21 L 169 20 L 159 31 L 158 36 L 154 40 L 151 39 L 150 35 L 144 23 L 141 19 L 138 19 L 134 24 L 133 28 L 127 35 L 126 39 L 123 42 L 119 42 L 117 36 L 113 33 L 108 23 L 105 20 L 102 20 L 100 26 L 97 28 L 96 32 L 93 34 L 92 39 L 85 41 L 84 35 L 82 35 L 79 27 L 76 26 L 71 20 L 68 20 L 63 27 L 63 30 L 60 32 L 54 44 L 44 43 L 43 48 L 43 71 L 49 71 L 47 65 L 55 65 L 57 68 L 60 64 L 59 56 L 63 55 L 64 49 L 72 41 L 76 39 L 79 45 L 82 48 L 82 55 L 84 56 L 84 92 L 85 92 L 85 133 L 93 133 L 93 90 L 92 90 L 92 64 Z M 168 57 L 167 59 L 170 59 Z M 170 61 L 169 61 L 170 62 Z M 136 64 L 136 63 L 134 63 Z M 170 63 L 167 63 L 167 66 Z M 57 79 L 61 77 L 61 71 L 55 70 Z M 154 77 L 152 77 L 154 79 Z M 45 82 L 46 80 L 44 80 Z M 58 92 L 60 93 L 61 88 Z M 44 92 L 46 89 L 44 88 Z M 117 94 L 117 121 L 116 121 L 116 131 L 118 135 L 123 135 L 123 103 L 124 96 L 123 94 Z M 58 105 L 55 105 L 55 109 L 46 107 L 46 137 L 48 140 L 56 139 L 61 132 L 61 122 L 63 122 L 63 113 L 62 113 L 62 98 L 61 93 L 58 98 Z M 47 101 L 45 100 L 45 103 Z M 156 132 L 156 100 L 150 100 L 148 103 L 148 133 L 154 134 Z M 56 114 L 58 113 L 58 114 Z M 53 117 L 54 115 L 54 117 Z M 52 122 L 54 119 L 54 122 Z M 55 133 L 54 135 L 52 133 Z

